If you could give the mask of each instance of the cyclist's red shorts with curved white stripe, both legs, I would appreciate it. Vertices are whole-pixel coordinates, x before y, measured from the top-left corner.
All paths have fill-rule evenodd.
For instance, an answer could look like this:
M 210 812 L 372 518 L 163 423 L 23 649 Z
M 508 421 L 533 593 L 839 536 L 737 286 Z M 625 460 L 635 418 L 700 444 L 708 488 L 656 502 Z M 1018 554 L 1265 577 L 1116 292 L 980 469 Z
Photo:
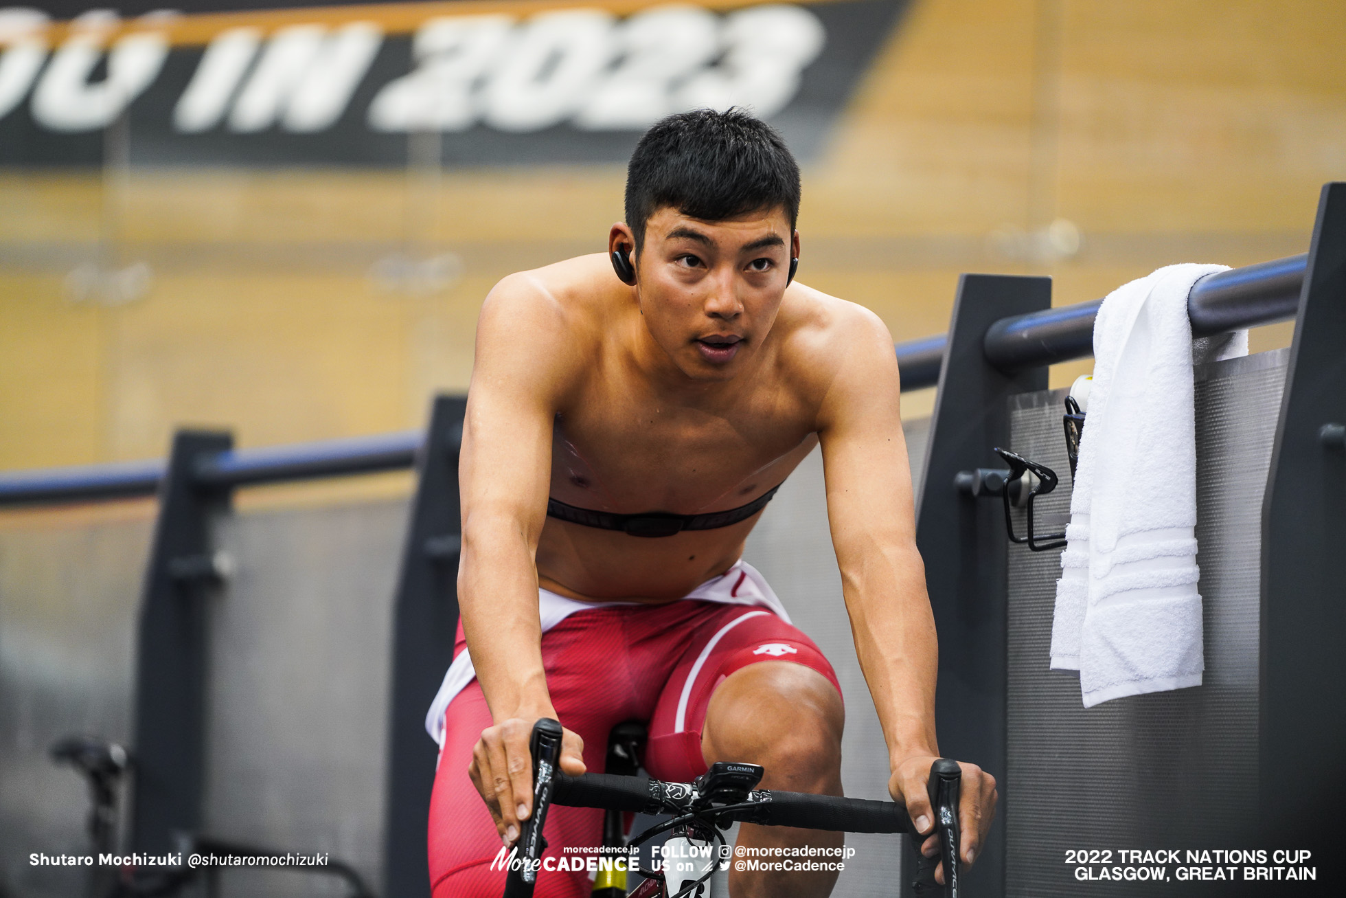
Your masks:
M 463 650 L 462 623 L 455 656 Z M 705 771 L 701 726 L 711 693 L 731 673 L 758 661 L 793 661 L 825 676 L 832 665 L 813 641 L 773 611 L 682 599 L 668 605 L 579 611 L 542 634 L 546 687 L 561 723 L 584 739 L 584 765 L 602 773 L 607 738 L 623 720 L 649 722 L 645 767 L 658 780 L 688 782 Z M 429 809 L 433 898 L 499 898 L 505 871 L 493 868 L 502 844 L 490 812 L 467 775 L 472 747 L 491 715 L 472 680 L 444 714 L 444 746 Z M 548 855 L 561 847 L 602 844 L 603 812 L 553 806 L 544 836 Z M 594 852 L 577 852 L 587 858 Z M 542 870 L 537 898 L 586 898 L 584 871 Z

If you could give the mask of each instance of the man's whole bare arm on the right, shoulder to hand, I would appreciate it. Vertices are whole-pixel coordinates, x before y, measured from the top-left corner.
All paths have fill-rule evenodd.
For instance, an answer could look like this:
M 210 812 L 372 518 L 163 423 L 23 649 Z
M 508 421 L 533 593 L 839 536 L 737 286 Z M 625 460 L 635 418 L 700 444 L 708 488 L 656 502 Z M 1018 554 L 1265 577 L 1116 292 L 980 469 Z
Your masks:
M 940 755 L 938 645 L 915 544 L 898 359 L 888 330 L 872 312 L 847 307 L 835 327 L 830 345 L 845 351 L 832 355 L 840 361 L 818 421 L 832 543 L 856 654 L 888 745 L 888 792 L 906 802 L 921 832 L 931 832 L 926 780 Z M 995 778 L 976 765 L 961 766 L 958 817 L 970 864 L 995 816 L 996 789 Z M 938 851 L 933 835 L 925 851 Z

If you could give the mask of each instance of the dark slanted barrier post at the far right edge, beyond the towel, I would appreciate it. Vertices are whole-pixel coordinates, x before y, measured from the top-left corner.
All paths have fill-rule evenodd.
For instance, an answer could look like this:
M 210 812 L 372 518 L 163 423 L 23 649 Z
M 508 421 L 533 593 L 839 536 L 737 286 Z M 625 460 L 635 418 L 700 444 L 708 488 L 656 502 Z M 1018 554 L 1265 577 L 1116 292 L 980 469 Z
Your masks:
M 1261 540 L 1260 819 L 1265 835 L 1308 840 L 1319 858 L 1339 856 L 1329 836 L 1346 800 L 1343 425 L 1346 183 L 1331 183 L 1289 347 Z

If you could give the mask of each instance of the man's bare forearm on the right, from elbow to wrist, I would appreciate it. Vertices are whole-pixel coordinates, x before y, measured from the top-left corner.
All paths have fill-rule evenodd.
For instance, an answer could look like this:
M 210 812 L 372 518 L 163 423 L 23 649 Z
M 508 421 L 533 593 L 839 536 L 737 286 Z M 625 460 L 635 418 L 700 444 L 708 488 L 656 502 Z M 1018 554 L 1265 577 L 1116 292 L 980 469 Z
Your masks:
M 914 556 L 914 557 L 913 557 Z M 938 754 L 934 688 L 940 650 L 915 549 L 868 563 L 843 591 L 856 656 L 874 696 L 892 762 Z

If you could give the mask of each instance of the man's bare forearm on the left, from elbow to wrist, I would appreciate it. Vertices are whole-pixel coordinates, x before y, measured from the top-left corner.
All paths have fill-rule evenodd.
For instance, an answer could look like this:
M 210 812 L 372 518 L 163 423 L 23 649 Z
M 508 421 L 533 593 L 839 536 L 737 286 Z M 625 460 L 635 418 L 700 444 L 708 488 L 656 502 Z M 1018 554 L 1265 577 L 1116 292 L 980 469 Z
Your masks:
M 548 710 L 537 569 L 520 528 L 498 522 L 463 528 L 458 594 L 463 633 L 491 716 L 502 720 L 520 711 Z

